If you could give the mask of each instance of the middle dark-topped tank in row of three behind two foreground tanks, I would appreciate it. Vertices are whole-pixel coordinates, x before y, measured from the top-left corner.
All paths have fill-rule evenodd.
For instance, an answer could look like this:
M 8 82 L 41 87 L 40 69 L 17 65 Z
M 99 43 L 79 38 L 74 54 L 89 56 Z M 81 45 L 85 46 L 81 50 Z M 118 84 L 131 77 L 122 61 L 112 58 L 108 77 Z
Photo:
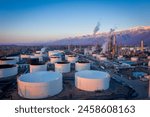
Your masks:
M 55 63 L 55 71 L 60 73 L 68 73 L 70 72 L 70 63 L 69 62 L 57 62 Z

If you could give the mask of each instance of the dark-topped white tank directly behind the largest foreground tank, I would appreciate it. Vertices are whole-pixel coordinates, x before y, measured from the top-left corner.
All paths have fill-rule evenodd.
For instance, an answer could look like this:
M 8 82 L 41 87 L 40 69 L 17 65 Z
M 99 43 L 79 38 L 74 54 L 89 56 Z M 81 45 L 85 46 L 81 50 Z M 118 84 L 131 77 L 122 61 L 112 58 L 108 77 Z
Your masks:
M 30 73 L 39 71 L 47 71 L 47 65 L 44 63 L 30 64 Z

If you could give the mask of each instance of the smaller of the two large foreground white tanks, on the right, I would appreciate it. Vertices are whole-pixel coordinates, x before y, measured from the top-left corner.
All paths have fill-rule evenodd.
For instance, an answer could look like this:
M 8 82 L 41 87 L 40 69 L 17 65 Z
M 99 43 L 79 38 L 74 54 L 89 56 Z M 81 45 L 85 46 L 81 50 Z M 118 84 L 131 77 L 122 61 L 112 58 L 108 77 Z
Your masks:
M 109 88 L 110 75 L 107 72 L 84 70 L 75 73 L 75 86 L 85 91 L 106 90 Z

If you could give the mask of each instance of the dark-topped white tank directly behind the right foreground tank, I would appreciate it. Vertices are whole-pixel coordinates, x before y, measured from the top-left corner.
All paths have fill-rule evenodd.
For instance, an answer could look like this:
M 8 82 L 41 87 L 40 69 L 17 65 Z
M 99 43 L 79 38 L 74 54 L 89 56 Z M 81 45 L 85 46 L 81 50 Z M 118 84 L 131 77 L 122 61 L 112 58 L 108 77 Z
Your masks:
M 88 61 L 78 61 L 75 63 L 76 71 L 90 70 L 90 67 L 90 62 Z

